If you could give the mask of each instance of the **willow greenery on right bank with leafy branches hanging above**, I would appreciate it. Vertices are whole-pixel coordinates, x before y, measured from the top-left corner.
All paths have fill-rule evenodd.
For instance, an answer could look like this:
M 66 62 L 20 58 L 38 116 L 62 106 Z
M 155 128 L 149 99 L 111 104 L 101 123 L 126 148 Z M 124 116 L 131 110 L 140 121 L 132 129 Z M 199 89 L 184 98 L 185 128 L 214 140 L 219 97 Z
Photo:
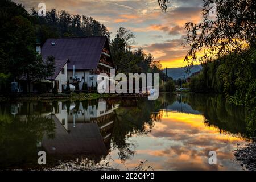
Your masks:
M 191 49 L 184 59 L 189 67 L 203 65 L 203 71 L 191 78 L 191 91 L 223 93 L 227 101 L 245 106 L 252 136 L 256 134 L 255 7 L 255 1 L 204 1 L 203 22 L 185 24 L 185 45 Z

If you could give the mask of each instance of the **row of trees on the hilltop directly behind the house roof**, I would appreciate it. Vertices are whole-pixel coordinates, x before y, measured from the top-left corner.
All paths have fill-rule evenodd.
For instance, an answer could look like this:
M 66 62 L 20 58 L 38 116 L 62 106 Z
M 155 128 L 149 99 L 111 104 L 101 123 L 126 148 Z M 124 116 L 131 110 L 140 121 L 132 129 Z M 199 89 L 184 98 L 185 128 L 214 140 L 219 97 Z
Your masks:
M 93 19 L 83 15 L 69 14 L 68 11 L 49 10 L 46 17 L 39 17 L 38 12 L 32 9 L 31 21 L 35 23 L 36 35 L 42 43 L 47 38 L 74 37 L 74 36 L 107 36 L 108 29 Z

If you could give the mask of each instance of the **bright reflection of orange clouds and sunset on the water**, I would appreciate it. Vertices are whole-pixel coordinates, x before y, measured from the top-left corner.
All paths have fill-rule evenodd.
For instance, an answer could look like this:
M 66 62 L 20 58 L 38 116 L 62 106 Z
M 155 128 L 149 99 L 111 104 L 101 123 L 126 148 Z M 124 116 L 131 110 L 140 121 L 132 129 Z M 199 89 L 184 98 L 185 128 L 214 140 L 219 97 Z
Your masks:
M 234 162 L 232 151 L 240 138 L 220 133 L 204 124 L 199 114 L 162 110 L 162 119 L 147 135 L 134 136 L 135 155 L 121 164 L 118 151 L 112 151 L 113 166 L 134 169 L 143 160 L 156 170 L 234 170 L 241 166 Z M 217 165 L 209 165 L 208 152 L 217 152 Z M 125 167 L 126 166 L 126 167 Z

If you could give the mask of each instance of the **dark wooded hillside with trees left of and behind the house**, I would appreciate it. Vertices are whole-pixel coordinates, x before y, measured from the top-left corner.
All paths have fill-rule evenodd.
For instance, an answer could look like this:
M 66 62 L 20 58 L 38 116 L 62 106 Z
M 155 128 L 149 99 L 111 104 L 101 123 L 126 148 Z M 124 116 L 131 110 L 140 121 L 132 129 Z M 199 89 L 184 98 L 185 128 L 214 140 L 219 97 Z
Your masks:
M 36 71 L 47 66 L 41 66 L 43 63 L 35 49 L 36 43 L 43 44 L 47 38 L 110 35 L 103 24 L 91 17 L 55 9 L 47 11 L 46 17 L 40 17 L 35 10 L 30 14 L 23 5 L 11 0 L 0 1 L 0 22 L 0 73 L 10 80 L 20 75 L 47 77 L 46 71 L 40 74 Z M 1 79 L 2 76 L 0 82 Z

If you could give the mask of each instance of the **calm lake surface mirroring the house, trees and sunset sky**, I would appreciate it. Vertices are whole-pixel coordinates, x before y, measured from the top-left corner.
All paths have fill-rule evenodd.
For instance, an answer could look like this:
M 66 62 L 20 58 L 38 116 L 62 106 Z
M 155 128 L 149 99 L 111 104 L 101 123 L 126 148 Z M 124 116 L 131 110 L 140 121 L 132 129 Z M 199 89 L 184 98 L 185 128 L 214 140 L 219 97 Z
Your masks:
M 243 169 L 233 151 L 247 140 L 245 110 L 220 95 L 0 106 L 0 169 Z M 209 164 L 210 151 L 217 164 Z

